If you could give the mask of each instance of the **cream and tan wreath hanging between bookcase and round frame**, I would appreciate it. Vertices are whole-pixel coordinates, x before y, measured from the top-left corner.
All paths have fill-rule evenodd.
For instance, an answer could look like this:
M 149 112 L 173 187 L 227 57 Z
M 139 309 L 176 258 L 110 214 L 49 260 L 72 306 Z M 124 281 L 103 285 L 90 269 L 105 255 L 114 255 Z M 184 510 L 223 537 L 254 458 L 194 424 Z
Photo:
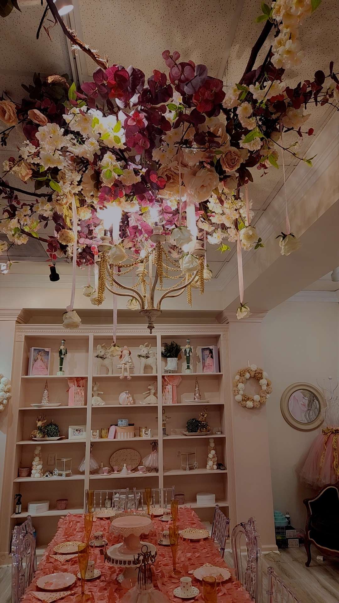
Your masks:
M 247 396 L 245 393 L 245 384 L 247 379 L 256 379 L 259 381 L 261 391 L 256 396 Z M 255 364 L 251 364 L 250 367 L 241 368 L 234 377 L 233 380 L 233 394 L 236 402 L 239 402 L 240 406 L 244 408 L 260 408 L 261 404 L 265 404 L 267 398 L 270 396 L 272 391 L 271 381 L 268 379 L 268 374 L 265 373 L 262 368 L 258 368 Z

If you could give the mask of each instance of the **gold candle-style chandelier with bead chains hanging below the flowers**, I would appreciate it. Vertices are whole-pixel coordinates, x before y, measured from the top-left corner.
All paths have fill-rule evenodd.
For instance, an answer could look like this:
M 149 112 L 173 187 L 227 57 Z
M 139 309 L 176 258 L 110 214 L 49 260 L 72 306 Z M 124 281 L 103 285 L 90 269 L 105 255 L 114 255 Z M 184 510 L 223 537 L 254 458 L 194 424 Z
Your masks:
M 184 262 L 179 263 L 168 253 L 165 235 L 161 233 L 162 227 L 155 226 L 153 231 L 150 242 L 139 257 L 127 256 L 122 245 L 112 244 L 108 234 L 103 236 L 98 245 L 99 272 L 95 300 L 96 305 L 100 306 L 106 289 L 113 295 L 128 297 L 128 308 L 139 309 L 140 314 L 147 318 L 150 333 L 154 329 L 154 318 L 162 312 L 163 300 L 179 297 L 186 291 L 187 301 L 191 306 L 192 286 L 199 288 L 200 294 L 203 294 L 206 277 L 205 250 L 199 242 L 195 245 L 194 254 L 186 254 L 186 257 L 191 257 L 189 264 L 185 266 Z M 135 277 L 135 285 L 124 285 L 123 280 L 127 274 Z M 167 285 L 169 281 L 173 284 Z

